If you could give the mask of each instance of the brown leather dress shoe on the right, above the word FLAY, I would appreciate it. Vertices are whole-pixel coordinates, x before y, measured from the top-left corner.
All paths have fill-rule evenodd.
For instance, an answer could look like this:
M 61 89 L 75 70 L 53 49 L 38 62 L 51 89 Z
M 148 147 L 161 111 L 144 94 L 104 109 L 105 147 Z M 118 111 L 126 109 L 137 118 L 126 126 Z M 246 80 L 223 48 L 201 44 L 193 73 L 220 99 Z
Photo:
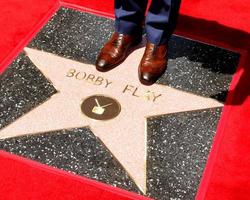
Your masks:
M 167 69 L 167 45 L 147 43 L 138 68 L 139 79 L 144 85 L 155 83 Z

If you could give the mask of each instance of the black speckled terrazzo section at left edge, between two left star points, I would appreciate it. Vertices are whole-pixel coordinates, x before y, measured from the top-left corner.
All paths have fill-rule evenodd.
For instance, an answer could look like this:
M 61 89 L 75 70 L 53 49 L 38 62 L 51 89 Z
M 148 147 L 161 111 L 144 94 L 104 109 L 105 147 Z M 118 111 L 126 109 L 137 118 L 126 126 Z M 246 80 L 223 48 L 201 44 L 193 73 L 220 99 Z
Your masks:
M 54 93 L 52 84 L 21 53 L 0 76 L 0 129 Z

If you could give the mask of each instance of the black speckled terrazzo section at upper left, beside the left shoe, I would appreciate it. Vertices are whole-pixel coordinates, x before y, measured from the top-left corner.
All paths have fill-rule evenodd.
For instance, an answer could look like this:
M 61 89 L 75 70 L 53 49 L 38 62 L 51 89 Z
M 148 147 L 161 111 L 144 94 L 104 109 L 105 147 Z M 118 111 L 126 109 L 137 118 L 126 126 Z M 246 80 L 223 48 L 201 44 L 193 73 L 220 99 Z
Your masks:
M 93 64 L 112 31 L 110 19 L 62 8 L 28 46 Z

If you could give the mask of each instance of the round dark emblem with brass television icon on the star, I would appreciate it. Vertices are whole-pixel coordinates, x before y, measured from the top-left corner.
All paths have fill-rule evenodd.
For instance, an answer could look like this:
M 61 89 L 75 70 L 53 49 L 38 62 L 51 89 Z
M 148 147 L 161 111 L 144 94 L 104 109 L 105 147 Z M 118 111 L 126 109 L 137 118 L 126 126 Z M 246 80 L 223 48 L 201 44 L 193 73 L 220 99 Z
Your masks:
M 87 117 L 95 120 L 109 120 L 121 112 L 120 103 L 104 95 L 87 97 L 81 104 L 81 110 Z

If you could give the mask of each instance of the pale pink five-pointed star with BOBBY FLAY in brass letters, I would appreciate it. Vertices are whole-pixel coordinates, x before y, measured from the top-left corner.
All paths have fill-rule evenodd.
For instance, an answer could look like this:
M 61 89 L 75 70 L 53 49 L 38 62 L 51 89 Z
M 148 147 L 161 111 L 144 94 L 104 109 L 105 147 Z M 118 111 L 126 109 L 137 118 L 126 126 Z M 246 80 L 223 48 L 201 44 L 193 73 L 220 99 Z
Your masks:
M 0 130 L 0 138 L 89 127 L 146 193 L 147 117 L 222 104 L 165 85 L 141 85 L 137 66 L 143 50 L 137 49 L 119 67 L 100 73 L 93 65 L 26 48 L 27 56 L 58 92 Z M 84 99 L 93 95 L 97 95 L 92 100 L 95 108 L 90 109 L 94 114 L 102 115 L 105 109 L 113 108 L 102 107 L 108 102 L 98 102 L 98 95 L 118 102 L 121 110 L 109 120 L 89 118 L 83 114 L 82 105 Z

